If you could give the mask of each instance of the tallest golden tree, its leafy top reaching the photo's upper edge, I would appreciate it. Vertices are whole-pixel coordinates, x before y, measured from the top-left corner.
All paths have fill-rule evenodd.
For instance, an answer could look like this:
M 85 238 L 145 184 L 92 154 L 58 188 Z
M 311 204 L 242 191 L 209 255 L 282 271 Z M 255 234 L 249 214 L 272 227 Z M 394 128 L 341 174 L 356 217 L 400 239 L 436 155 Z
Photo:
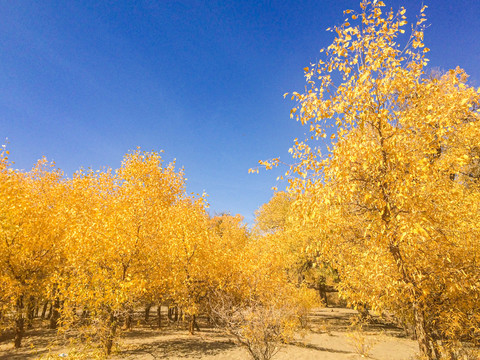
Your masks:
M 306 92 L 292 96 L 291 116 L 311 134 L 291 149 L 297 225 L 316 232 L 314 250 L 353 303 L 406 311 L 435 359 L 440 340 L 479 340 L 479 92 L 458 68 L 424 76 L 425 7 L 409 38 L 404 8 L 360 8 L 345 11 L 325 59 L 304 69 Z

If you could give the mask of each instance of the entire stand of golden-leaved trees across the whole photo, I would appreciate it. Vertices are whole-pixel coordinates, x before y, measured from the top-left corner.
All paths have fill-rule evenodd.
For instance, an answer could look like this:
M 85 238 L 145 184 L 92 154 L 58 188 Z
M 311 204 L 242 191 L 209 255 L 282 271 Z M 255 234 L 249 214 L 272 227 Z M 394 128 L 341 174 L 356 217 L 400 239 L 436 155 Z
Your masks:
M 135 309 L 163 304 L 266 359 L 335 290 L 413 329 L 425 359 L 479 346 L 480 89 L 460 68 L 429 73 L 425 8 L 411 26 L 382 1 L 345 11 L 292 94 L 308 132 L 288 189 L 252 229 L 210 216 L 159 153 L 67 178 L 46 159 L 14 169 L 4 147 L 0 330 L 20 347 L 50 306 L 51 328 L 109 355 Z

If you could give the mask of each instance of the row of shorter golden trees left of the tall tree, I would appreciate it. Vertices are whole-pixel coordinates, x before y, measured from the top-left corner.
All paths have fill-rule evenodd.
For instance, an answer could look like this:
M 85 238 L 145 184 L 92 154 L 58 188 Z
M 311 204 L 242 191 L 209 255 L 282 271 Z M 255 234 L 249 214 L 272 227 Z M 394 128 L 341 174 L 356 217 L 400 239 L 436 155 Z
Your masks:
M 209 216 L 158 153 L 71 179 L 45 159 L 13 169 L 5 148 L 0 165 L 1 323 L 15 347 L 50 305 L 51 328 L 109 355 L 135 309 L 154 304 L 181 309 L 192 334 L 208 316 L 263 359 L 318 304 L 290 281 L 279 244 L 252 236 L 239 215 Z

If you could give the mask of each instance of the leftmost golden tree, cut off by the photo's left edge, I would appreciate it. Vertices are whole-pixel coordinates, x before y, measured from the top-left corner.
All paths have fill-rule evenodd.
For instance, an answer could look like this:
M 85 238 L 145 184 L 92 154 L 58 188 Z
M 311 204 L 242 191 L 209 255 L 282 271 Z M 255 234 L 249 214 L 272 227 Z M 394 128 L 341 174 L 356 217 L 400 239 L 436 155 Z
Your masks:
M 5 149 L 0 153 L 0 305 L 13 314 L 15 347 L 60 265 L 62 173 L 52 167 L 42 159 L 29 172 L 14 170 Z

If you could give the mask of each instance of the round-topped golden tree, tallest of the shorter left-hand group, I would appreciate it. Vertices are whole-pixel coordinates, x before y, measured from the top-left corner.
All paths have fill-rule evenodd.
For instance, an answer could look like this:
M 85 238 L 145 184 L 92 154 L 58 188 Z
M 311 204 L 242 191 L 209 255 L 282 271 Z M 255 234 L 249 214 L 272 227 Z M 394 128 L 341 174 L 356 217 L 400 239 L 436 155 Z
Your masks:
M 158 278 L 169 276 L 155 264 L 168 258 L 161 250 L 174 233 L 172 208 L 184 196 L 183 173 L 174 164 L 164 167 L 159 154 L 137 150 L 115 173 L 78 172 L 67 186 L 68 266 L 59 280 L 64 323 L 82 324 L 72 309 L 88 311 L 87 328 L 109 354 L 120 324 L 128 326 L 133 308 L 148 291 L 163 289 Z

